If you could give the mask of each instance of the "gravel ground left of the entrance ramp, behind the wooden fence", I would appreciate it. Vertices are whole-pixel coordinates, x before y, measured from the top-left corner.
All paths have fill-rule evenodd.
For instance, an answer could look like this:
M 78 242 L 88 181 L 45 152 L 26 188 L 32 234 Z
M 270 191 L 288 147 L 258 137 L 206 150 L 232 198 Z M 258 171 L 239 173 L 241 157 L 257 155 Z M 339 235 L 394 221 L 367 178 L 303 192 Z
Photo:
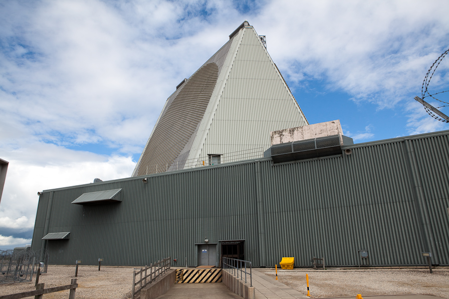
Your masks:
M 79 266 L 76 299 L 127 299 L 131 298 L 134 267 Z M 47 273 L 39 277 L 45 289 L 70 285 L 75 278 L 75 266 L 48 266 Z M 9 295 L 35 290 L 35 276 L 32 282 L 0 284 L 0 295 Z M 67 299 L 69 290 L 50 293 L 44 299 Z

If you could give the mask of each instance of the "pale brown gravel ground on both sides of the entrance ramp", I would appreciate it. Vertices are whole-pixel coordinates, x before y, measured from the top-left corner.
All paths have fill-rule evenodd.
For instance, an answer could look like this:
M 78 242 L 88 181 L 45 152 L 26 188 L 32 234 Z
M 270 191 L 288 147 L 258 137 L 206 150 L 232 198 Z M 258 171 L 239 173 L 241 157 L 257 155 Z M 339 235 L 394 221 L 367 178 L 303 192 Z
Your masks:
M 76 299 L 129 299 L 134 267 L 79 266 Z M 264 272 L 275 277 L 274 269 Z M 309 275 L 312 298 L 352 297 L 375 295 L 423 294 L 449 299 L 449 269 L 428 270 L 284 270 L 278 271 L 283 284 L 307 295 L 305 275 Z M 39 283 L 45 288 L 65 286 L 75 278 L 75 266 L 48 266 Z M 0 284 L 0 295 L 35 290 L 32 282 Z M 45 299 L 67 299 L 69 291 L 44 296 Z

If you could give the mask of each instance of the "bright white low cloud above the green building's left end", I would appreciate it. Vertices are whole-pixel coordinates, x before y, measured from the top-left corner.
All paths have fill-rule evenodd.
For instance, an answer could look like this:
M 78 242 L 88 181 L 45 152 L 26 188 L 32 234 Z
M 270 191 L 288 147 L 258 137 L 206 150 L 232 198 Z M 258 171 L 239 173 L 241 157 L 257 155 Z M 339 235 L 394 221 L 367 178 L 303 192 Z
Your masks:
M 92 183 L 94 178 L 129 177 L 135 167 L 131 157 L 103 156 L 43 143 L 0 150 L 0 156 L 9 162 L 0 202 L 0 227 L 10 228 L 34 225 L 37 191 Z M 8 219 L 12 222 L 6 225 Z

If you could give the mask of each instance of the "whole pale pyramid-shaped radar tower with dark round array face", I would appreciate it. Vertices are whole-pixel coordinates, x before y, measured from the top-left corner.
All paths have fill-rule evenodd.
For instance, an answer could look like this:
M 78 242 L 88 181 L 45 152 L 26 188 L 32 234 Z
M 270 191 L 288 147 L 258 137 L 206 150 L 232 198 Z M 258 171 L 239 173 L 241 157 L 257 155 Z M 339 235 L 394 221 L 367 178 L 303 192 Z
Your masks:
M 270 132 L 308 125 L 247 21 L 167 99 L 133 176 L 260 157 Z

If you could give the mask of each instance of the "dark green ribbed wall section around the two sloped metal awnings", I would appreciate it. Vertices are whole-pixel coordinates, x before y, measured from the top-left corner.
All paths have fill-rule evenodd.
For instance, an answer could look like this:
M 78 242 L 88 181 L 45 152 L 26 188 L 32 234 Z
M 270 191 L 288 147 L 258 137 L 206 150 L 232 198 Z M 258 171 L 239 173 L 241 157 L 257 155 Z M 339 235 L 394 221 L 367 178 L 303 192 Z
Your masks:
M 172 256 L 178 265 L 186 257 L 196 265 L 195 243 L 205 237 L 211 243 L 245 240 L 245 256 L 257 260 L 255 191 L 248 187 L 254 180 L 250 163 L 154 175 L 148 183 L 136 178 L 56 190 L 50 232 L 70 232 L 70 240 L 48 241 L 50 263 L 96 264 L 103 258 L 105 265 L 145 265 Z M 117 188 L 122 188 L 120 203 L 70 204 L 83 193 Z M 39 205 L 45 203 L 41 199 Z M 36 228 L 45 215 L 38 219 Z M 37 229 L 33 237 L 33 249 L 38 248 L 43 232 Z

